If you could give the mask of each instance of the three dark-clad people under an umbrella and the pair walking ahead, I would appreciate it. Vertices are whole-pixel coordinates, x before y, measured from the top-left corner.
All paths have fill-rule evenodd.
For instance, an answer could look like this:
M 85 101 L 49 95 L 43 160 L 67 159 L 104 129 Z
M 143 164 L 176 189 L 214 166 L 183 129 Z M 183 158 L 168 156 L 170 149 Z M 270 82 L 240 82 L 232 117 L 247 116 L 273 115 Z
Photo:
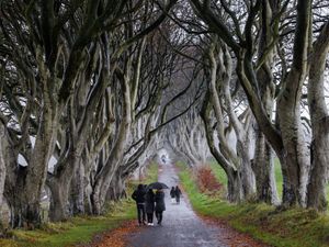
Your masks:
M 174 199 L 179 204 L 181 190 L 179 187 L 172 187 L 171 191 L 172 190 L 175 191 Z M 173 198 L 173 193 L 171 191 L 170 195 Z M 154 214 L 156 214 L 158 225 L 161 225 L 162 214 L 163 211 L 166 211 L 164 192 L 162 189 L 157 189 L 155 193 L 152 189 L 147 189 L 144 184 L 138 184 L 137 189 L 132 194 L 132 198 L 136 201 L 139 225 L 155 225 Z

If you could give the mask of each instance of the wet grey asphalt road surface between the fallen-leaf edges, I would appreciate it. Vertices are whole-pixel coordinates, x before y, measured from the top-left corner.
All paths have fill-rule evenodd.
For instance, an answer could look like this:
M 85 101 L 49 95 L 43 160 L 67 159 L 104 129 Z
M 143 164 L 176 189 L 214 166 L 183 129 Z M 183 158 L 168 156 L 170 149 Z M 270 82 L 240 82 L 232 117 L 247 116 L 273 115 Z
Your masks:
M 168 187 L 177 186 L 179 178 L 174 168 L 162 165 L 159 181 Z M 170 190 L 166 193 L 166 211 L 162 225 L 143 226 L 139 233 L 128 237 L 128 247 L 226 247 L 220 242 L 220 228 L 203 222 L 191 209 L 184 195 L 181 203 L 171 204 Z

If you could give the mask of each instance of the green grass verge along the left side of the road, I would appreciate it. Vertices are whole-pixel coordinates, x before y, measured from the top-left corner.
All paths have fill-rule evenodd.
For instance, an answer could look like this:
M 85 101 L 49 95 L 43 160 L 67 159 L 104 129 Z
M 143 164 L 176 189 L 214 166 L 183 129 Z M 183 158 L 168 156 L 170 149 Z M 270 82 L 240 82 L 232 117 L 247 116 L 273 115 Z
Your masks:
M 144 183 L 156 181 L 158 166 L 152 164 Z M 127 194 L 136 188 L 139 181 L 127 183 Z M 64 247 L 89 243 L 92 237 L 105 231 L 114 229 L 125 221 L 136 217 L 135 202 L 128 197 L 125 200 L 109 205 L 109 213 L 103 216 L 72 217 L 64 223 L 45 223 L 41 229 L 14 229 L 12 239 L 0 239 L 0 246 L 5 247 Z

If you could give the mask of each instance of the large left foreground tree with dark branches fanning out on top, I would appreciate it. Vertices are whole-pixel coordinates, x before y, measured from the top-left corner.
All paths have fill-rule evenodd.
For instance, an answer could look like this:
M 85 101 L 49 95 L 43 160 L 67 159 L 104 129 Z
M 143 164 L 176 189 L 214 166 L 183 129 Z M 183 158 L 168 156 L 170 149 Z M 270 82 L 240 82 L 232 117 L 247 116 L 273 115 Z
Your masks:
M 173 3 L 171 1 L 163 7 L 164 12 Z M 86 48 L 97 37 L 101 37 L 101 34 L 116 29 L 128 14 L 139 10 L 134 5 L 128 1 L 115 5 L 112 1 L 72 1 L 69 4 L 59 1 L 1 2 L 1 32 L 4 37 L 2 55 L 10 59 L 19 74 L 24 74 L 27 86 L 34 86 L 26 87 L 26 93 L 33 94 L 25 97 L 27 100 L 24 117 L 19 117 L 25 124 L 20 143 L 29 139 L 30 113 L 35 99 L 38 99 L 36 106 L 39 112 L 35 144 L 26 155 L 29 166 L 24 190 L 18 191 L 18 194 L 22 194 L 19 197 L 21 202 L 15 205 L 22 220 L 19 226 L 24 222 L 32 227 L 39 223 L 39 195 L 47 164 L 55 147 L 61 113 L 81 82 L 79 75 L 88 59 Z M 127 15 L 123 16 L 125 10 Z M 166 13 L 160 13 L 154 24 L 150 23 L 144 31 L 131 36 L 114 57 L 120 57 L 136 40 L 149 33 L 164 18 Z M 35 90 L 30 91 L 30 88 Z M 16 184 L 13 187 L 18 188 Z

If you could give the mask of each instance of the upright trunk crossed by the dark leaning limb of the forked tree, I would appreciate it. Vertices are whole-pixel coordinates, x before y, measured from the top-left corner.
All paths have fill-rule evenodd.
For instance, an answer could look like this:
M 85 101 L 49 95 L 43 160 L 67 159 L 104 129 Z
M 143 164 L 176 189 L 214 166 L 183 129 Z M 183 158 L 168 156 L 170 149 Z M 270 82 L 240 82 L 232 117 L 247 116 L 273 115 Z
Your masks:
M 260 98 L 264 105 L 264 110 L 271 120 L 274 104 L 274 81 L 271 68 L 273 67 L 273 56 L 275 54 L 274 45 L 269 49 L 270 44 L 273 43 L 275 29 L 275 14 L 279 11 L 279 5 L 274 1 L 263 1 L 261 8 L 261 33 L 259 37 L 258 57 L 262 59 L 265 57 L 262 66 L 257 71 L 257 79 L 259 82 Z M 268 55 L 266 55 L 268 54 Z M 256 127 L 256 151 L 253 158 L 253 170 L 257 180 L 257 199 L 271 204 L 277 204 L 277 192 L 274 178 L 274 162 L 273 151 L 266 142 L 264 134 L 254 123 Z

